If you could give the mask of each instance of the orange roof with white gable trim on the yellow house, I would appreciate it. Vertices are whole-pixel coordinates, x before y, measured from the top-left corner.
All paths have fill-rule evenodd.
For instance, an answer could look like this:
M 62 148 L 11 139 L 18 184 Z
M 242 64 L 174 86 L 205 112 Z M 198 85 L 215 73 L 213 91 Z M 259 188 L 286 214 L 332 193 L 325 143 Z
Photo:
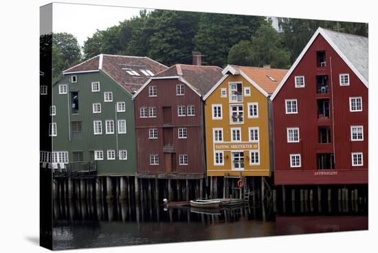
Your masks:
M 278 87 L 278 84 L 282 78 L 287 73 L 287 69 L 271 69 L 265 67 L 248 67 L 248 66 L 237 66 L 237 65 L 227 65 L 223 69 L 222 74 L 225 75 L 219 82 L 214 85 L 214 87 L 206 94 L 203 98 L 205 100 L 212 94 L 212 92 L 221 85 L 223 80 L 228 76 L 241 75 L 245 78 L 251 85 L 256 87 L 264 96 L 269 96 Z

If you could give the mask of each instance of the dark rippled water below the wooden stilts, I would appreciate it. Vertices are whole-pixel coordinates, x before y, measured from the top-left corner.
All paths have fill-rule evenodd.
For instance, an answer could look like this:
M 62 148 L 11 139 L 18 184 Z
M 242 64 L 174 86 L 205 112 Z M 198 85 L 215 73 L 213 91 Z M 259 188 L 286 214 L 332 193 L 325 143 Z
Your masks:
M 63 250 L 366 229 L 366 203 L 287 203 L 285 210 L 282 203 L 265 203 L 211 211 L 164 210 L 153 202 L 56 201 L 53 245 Z

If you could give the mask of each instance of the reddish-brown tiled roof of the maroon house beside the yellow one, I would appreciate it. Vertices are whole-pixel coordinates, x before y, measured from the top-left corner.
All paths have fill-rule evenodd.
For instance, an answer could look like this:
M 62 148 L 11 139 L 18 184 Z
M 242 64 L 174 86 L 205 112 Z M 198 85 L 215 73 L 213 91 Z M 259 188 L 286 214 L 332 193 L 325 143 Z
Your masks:
M 176 64 L 156 74 L 154 78 L 179 76 L 197 91 L 206 94 L 222 78 L 222 69 L 217 66 Z

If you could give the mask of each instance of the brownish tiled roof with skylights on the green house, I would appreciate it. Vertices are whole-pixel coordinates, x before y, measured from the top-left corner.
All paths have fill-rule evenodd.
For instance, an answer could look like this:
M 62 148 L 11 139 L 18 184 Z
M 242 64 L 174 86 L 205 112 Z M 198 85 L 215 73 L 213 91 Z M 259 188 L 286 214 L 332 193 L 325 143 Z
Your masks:
M 70 67 L 63 71 L 63 74 L 98 72 L 102 70 L 113 78 L 116 83 L 124 87 L 131 94 L 134 94 L 151 76 L 146 76 L 141 69 L 148 69 L 153 74 L 162 72 L 167 67 L 142 56 L 120 56 L 111 54 L 99 54 L 87 61 Z M 139 74 L 131 75 L 126 70 L 133 70 Z

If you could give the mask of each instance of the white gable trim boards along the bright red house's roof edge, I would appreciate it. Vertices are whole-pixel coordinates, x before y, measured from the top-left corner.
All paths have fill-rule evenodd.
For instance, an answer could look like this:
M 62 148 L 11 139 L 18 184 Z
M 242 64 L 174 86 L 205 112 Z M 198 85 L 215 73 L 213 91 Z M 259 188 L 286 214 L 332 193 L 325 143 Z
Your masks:
M 342 53 L 342 51 L 339 49 L 339 47 L 337 47 L 337 45 L 335 45 L 335 43 L 333 43 L 331 38 L 329 38 L 329 36 L 326 34 L 326 32 L 324 32 L 324 29 L 318 28 L 318 30 L 316 30 L 316 32 L 313 34 L 313 36 L 311 37 L 311 39 L 309 40 L 307 45 L 304 47 L 304 49 L 302 50 L 302 52 L 300 53 L 300 55 L 298 56 L 296 61 L 293 63 L 293 65 L 291 66 L 291 68 L 289 69 L 289 71 L 287 72 L 285 77 L 281 80 L 281 83 L 276 88 L 276 91 L 274 91 L 273 95 L 271 95 L 270 99 L 272 101 L 277 96 L 278 92 L 280 92 L 280 89 L 282 88 L 282 86 L 286 83 L 287 79 L 289 78 L 291 73 L 293 73 L 294 69 L 296 69 L 297 65 L 302 60 L 304 54 L 307 53 L 307 50 L 309 50 L 309 47 L 312 45 L 313 41 L 315 41 L 316 37 L 318 37 L 319 34 L 323 36 L 323 38 L 326 40 L 326 42 L 329 43 L 329 45 L 331 45 L 333 50 L 335 50 L 335 52 L 337 52 L 337 54 L 339 54 L 339 56 L 346 63 L 346 65 L 348 65 L 348 67 L 350 67 L 352 69 L 353 73 L 355 73 L 356 76 L 359 78 L 359 80 L 361 80 L 362 83 L 364 83 L 364 85 L 368 88 L 368 81 L 364 78 L 364 76 L 362 76 L 362 74 L 359 73 L 359 71 L 355 68 L 355 66 L 351 63 L 351 61 L 349 61 L 348 58 L 346 58 L 346 56 Z

